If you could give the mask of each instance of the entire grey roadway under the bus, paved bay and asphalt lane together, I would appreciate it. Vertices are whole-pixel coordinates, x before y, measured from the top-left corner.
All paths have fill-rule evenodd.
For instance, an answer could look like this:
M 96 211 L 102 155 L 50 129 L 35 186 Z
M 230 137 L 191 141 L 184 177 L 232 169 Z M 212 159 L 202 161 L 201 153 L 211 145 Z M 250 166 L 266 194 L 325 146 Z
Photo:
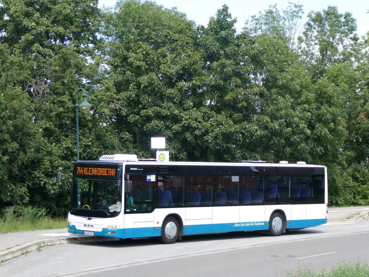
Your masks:
M 320 268 L 342 260 L 369 260 L 368 236 L 369 221 L 362 220 L 279 237 L 244 232 L 185 236 L 175 244 L 156 239 L 58 244 L 1 263 L 0 275 L 282 277 L 283 270 L 294 270 L 299 263 Z

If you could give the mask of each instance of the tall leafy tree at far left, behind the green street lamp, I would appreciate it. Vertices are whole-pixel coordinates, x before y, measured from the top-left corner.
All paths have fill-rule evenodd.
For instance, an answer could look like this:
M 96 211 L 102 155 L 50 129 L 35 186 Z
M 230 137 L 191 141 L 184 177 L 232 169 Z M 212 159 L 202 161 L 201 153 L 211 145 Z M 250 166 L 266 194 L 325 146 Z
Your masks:
M 12 158 L 2 164 L 14 197 L 4 192 L 0 206 L 65 214 L 69 187 L 55 184 L 55 171 L 75 160 L 75 91 L 82 79 L 91 83 L 86 76 L 100 43 L 97 1 L 2 0 L 0 11 L 1 103 L 12 103 L 11 95 L 22 103 L 9 106 L 0 123 L 17 133 L 13 143 L 4 141 L 4 157 Z

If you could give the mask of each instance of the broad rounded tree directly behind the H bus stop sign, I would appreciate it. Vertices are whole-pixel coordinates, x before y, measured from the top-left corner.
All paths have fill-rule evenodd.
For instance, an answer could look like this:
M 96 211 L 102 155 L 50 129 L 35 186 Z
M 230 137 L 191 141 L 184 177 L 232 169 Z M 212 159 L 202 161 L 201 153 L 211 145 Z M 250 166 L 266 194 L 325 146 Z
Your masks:
M 193 143 L 183 134 L 183 118 L 204 102 L 194 23 L 176 10 L 130 0 L 107 14 L 104 33 L 109 80 L 116 91 L 112 101 L 123 107 L 114 110 L 109 125 L 126 134 L 122 148 L 125 144 L 128 151 L 150 156 L 149 138 L 165 136 L 172 157 L 188 158 L 178 147 L 186 140 Z

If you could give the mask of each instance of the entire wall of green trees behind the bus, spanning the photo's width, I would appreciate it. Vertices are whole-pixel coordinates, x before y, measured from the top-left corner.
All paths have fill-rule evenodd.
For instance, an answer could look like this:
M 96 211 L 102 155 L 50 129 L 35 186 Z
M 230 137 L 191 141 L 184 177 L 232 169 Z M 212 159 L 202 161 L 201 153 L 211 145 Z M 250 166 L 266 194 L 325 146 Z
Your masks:
M 327 165 L 330 205 L 368 205 L 368 36 L 336 7 L 270 6 L 237 34 L 226 5 L 207 27 L 176 9 L 123 0 L 1 0 L 0 209 L 65 215 L 76 157 Z

